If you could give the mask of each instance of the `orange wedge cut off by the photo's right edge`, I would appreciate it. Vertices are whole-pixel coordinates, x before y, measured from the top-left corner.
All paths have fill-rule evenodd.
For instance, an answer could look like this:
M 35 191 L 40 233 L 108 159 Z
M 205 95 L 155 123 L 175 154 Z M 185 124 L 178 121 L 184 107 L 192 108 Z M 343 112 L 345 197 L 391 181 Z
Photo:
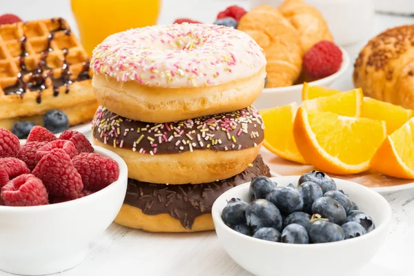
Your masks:
M 414 119 L 386 137 L 371 159 L 371 167 L 384 175 L 414 179 Z

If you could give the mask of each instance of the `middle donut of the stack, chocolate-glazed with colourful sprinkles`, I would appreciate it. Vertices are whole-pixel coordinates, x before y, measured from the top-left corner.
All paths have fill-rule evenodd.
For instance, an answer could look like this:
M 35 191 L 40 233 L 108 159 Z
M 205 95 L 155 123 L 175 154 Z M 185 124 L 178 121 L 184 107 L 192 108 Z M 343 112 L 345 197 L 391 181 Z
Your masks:
M 172 123 L 121 117 L 102 106 L 92 121 L 94 144 L 121 156 L 128 177 L 155 184 L 227 179 L 252 166 L 264 139 L 253 107 Z

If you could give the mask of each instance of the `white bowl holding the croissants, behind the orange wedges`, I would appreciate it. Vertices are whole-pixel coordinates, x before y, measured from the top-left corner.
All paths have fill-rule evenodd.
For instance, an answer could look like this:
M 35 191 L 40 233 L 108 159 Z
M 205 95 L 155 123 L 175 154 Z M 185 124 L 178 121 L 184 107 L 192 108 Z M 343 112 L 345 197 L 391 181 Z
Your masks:
M 308 83 L 309 86 L 329 87 L 336 79 L 344 74 L 349 66 L 350 58 L 348 52 L 346 52 L 344 48 L 341 48 L 341 50 L 342 65 L 338 72 L 323 79 L 311 81 Z M 261 110 L 264 108 L 273 108 L 275 106 L 285 106 L 286 104 L 293 103 L 294 101 L 300 105 L 300 103 L 302 103 L 302 88 L 303 84 L 278 88 L 265 88 L 253 103 L 253 106 L 255 106 L 258 110 Z

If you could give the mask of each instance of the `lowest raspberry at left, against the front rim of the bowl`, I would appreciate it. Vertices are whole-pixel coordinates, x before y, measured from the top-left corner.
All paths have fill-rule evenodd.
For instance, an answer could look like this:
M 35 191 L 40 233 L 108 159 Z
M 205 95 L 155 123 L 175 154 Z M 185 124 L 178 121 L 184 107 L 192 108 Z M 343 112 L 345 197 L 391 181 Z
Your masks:
M 38 206 L 49 204 L 48 192 L 41 180 L 26 174 L 8 181 L 1 188 L 1 199 L 6 206 Z

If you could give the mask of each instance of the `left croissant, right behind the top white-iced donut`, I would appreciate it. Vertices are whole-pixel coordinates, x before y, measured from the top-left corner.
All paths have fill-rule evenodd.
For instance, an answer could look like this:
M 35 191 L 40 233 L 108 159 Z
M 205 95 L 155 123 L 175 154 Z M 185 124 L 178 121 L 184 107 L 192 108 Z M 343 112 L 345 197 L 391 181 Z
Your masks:
M 291 86 L 302 70 L 299 32 L 279 10 L 259 6 L 242 17 L 237 26 L 264 50 L 268 75 L 267 88 Z

